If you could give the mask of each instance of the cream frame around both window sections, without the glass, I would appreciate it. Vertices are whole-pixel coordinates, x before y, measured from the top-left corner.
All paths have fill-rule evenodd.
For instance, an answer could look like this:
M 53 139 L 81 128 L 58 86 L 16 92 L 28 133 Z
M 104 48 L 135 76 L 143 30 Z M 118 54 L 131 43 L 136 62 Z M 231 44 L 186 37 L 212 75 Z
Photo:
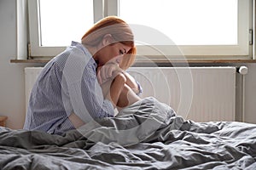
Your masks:
M 19 1 L 19 0 L 18 0 Z M 254 6 L 255 0 L 238 0 L 238 45 L 220 45 L 220 46 L 178 46 L 186 59 L 254 59 L 254 44 L 249 45 L 251 39 L 250 30 L 254 26 Z M 249 8 L 246 12 L 239 12 Z M 119 15 L 119 0 L 94 0 L 94 14 L 95 22 L 101 20 L 108 15 Z M 33 58 L 53 57 L 60 54 L 66 47 L 40 47 L 39 37 L 39 18 L 38 18 L 38 0 L 28 0 L 28 14 L 29 14 L 29 44 L 30 53 Z M 243 22 L 243 23 L 241 23 Z M 245 24 L 246 23 L 246 24 Z M 252 35 L 254 37 L 254 34 Z M 160 54 L 155 48 L 161 51 Z M 169 55 L 172 46 L 137 46 L 137 54 L 149 56 L 152 59 L 177 59 L 177 56 Z M 209 53 L 209 51 L 211 53 Z M 197 53 L 195 53 L 197 52 Z M 198 53 L 200 52 L 200 53 Z M 232 52 L 232 53 L 231 53 Z M 236 52 L 236 53 L 235 53 Z M 180 58 L 179 58 L 180 59 Z

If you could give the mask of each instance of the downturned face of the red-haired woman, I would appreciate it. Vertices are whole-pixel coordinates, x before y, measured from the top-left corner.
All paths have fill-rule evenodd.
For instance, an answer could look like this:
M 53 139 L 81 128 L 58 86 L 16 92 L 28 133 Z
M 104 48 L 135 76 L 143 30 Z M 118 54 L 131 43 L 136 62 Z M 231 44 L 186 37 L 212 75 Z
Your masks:
M 116 42 L 102 48 L 97 54 L 98 66 L 105 65 L 108 62 L 119 64 L 130 49 L 130 46 L 126 46 L 121 42 Z

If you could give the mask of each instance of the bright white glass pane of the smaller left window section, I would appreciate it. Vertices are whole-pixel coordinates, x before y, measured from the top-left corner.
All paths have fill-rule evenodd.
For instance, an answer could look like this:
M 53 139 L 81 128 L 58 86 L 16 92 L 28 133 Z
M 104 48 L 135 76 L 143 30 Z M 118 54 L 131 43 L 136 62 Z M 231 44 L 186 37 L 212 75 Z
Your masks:
M 40 42 L 61 47 L 79 41 L 93 25 L 93 0 L 40 0 Z

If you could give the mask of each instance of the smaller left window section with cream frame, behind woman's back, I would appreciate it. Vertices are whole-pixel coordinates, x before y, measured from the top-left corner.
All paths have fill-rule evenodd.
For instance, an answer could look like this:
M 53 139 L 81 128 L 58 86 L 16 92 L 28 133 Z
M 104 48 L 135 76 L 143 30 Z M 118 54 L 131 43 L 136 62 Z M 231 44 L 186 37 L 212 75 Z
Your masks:
M 102 0 L 28 0 L 31 55 L 55 56 L 103 17 Z

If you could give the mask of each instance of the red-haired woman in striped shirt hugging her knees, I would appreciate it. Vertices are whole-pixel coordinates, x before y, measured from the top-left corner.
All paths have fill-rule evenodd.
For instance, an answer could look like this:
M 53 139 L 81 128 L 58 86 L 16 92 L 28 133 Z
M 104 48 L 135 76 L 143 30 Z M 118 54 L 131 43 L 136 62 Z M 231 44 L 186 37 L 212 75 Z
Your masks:
M 32 88 L 24 129 L 60 134 L 93 118 L 114 116 L 115 107 L 139 100 L 140 85 L 125 72 L 135 54 L 124 20 L 110 16 L 97 22 L 81 43 L 72 42 L 44 66 Z

